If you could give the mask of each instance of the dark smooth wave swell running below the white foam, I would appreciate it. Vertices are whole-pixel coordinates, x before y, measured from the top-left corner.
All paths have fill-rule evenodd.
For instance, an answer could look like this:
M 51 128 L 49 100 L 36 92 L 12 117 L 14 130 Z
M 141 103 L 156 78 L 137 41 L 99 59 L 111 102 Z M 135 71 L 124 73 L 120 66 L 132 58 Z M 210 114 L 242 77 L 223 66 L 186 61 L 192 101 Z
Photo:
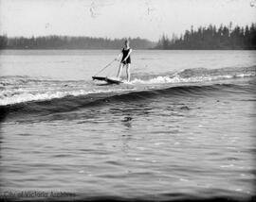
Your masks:
M 248 88 L 246 91 L 253 93 L 254 87 Z M 53 98 L 51 100 L 36 100 L 29 103 L 18 103 L 14 105 L 0 106 L 2 116 L 9 113 L 22 114 L 41 114 L 47 115 L 54 112 L 66 112 L 76 109 L 94 108 L 104 105 L 115 105 L 116 103 L 139 102 L 146 100 L 160 100 L 161 98 L 170 97 L 192 97 L 192 96 L 210 96 L 214 93 L 239 92 L 245 91 L 244 86 L 235 84 L 213 84 L 213 85 L 194 85 L 194 86 L 175 86 L 167 89 L 140 90 L 132 92 L 111 92 L 108 93 L 86 93 L 72 96 L 64 96 L 61 98 Z

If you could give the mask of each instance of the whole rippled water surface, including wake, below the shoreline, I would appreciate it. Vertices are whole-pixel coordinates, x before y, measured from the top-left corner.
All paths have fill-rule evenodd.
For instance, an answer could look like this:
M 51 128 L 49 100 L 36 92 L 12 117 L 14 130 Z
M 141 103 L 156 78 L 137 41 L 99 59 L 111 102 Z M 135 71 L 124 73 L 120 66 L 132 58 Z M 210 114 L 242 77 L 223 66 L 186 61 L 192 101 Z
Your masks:
M 255 53 L 137 50 L 104 85 L 119 51 L 2 51 L 0 192 L 251 199 Z

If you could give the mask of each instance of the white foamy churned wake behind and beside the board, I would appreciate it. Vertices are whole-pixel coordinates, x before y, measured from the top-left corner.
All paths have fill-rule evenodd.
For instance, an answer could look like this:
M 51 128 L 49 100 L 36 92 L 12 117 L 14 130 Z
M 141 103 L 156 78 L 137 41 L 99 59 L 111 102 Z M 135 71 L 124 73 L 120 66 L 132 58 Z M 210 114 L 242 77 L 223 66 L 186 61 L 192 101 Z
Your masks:
M 173 73 L 163 74 L 134 74 L 130 83 L 110 86 L 97 86 L 86 80 L 52 80 L 45 77 L 29 76 L 0 76 L 0 106 L 14 105 L 31 101 L 44 101 L 65 96 L 82 96 L 99 93 L 131 92 L 139 89 L 151 90 L 159 84 L 174 85 L 204 85 L 209 81 L 223 81 L 227 79 L 256 76 L 256 66 L 247 68 L 222 69 L 185 69 Z M 127 88 L 127 84 L 132 86 Z M 141 86 L 142 85 L 142 86 Z M 167 88 L 164 85 L 162 88 Z

